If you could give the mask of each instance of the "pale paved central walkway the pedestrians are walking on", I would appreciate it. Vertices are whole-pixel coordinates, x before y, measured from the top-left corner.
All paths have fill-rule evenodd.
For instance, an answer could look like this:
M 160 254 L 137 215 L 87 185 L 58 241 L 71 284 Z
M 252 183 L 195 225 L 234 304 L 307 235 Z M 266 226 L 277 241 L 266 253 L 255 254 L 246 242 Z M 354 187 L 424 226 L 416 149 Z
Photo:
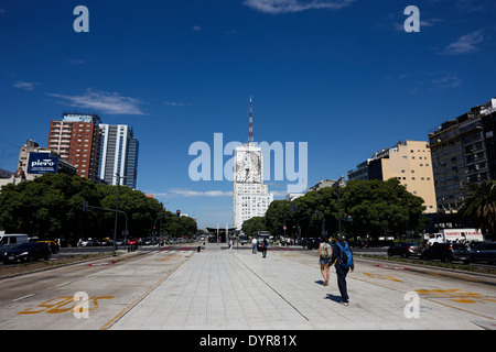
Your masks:
M 366 282 L 348 279 L 351 304 L 342 306 L 334 268 L 325 287 L 312 260 L 314 265 L 299 263 L 273 251 L 263 258 L 251 249 L 230 252 L 225 244 L 207 244 L 109 328 L 432 329 L 432 321 L 405 317 L 402 293 Z M 434 328 L 453 329 L 456 322 L 440 319 Z

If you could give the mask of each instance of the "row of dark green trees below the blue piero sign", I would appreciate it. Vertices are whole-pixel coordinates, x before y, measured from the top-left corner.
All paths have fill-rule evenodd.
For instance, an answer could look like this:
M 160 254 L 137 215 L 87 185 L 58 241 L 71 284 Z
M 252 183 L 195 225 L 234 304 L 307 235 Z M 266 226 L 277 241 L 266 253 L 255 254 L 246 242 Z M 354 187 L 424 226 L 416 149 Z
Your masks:
M 119 210 L 128 216 L 130 235 L 150 235 L 159 218 L 177 223 L 176 234 L 196 231 L 193 219 L 180 222 L 157 199 L 125 186 L 119 191 Z M 85 212 L 84 201 L 109 211 L 90 208 Z M 111 238 L 116 202 L 117 186 L 96 185 L 79 176 L 45 174 L 31 182 L 2 187 L 0 227 L 7 232 L 29 233 L 41 239 Z M 119 213 L 118 237 L 125 230 L 125 220 Z

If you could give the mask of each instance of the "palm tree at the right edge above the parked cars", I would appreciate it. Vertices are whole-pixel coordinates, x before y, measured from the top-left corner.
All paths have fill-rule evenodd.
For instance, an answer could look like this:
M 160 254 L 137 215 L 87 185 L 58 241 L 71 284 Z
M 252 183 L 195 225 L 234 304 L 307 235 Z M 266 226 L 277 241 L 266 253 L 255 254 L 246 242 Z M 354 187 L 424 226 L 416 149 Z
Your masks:
M 468 196 L 463 199 L 460 212 L 472 220 L 483 232 L 496 237 L 496 180 L 484 180 L 470 186 Z

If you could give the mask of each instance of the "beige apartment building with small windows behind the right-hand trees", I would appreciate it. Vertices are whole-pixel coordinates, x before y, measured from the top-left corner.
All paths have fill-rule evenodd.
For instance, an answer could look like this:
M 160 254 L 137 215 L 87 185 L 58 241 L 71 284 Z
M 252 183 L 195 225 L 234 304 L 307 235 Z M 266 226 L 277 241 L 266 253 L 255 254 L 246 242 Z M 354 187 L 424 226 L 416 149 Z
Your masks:
M 431 151 L 427 142 L 406 141 L 374 153 L 348 172 L 348 179 L 396 178 L 408 191 L 423 199 L 425 213 L 435 213 L 435 189 Z

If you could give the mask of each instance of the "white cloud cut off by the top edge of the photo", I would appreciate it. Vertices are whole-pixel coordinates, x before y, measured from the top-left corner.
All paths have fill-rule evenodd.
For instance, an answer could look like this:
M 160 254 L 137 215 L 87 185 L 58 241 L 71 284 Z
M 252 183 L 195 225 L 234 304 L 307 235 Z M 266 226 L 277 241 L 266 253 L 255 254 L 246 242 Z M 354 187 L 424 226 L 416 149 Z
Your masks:
M 306 10 L 338 10 L 348 7 L 355 0 L 245 0 L 242 3 L 260 12 L 288 13 Z

